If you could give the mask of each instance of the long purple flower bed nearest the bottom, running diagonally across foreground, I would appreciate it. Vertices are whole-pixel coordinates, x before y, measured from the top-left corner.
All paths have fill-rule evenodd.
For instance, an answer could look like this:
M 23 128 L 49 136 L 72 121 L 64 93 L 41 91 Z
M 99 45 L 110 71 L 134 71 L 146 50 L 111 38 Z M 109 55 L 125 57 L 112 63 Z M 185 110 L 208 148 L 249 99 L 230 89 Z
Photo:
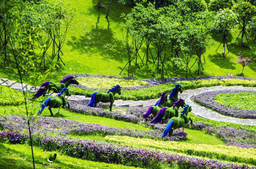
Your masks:
M 15 134 L 17 134 L 17 137 L 23 135 L 22 133 L 17 132 L 12 133 L 12 135 Z M 0 137 L 8 138 L 8 136 L 8 132 L 0 132 Z M 23 139 L 27 138 L 28 137 L 26 136 Z M 150 169 L 158 169 L 161 168 L 162 165 L 165 165 L 166 167 L 175 167 L 175 164 L 180 168 L 186 169 L 256 169 L 256 167 L 250 167 L 244 164 L 239 165 L 232 162 L 225 163 L 216 160 L 153 152 L 139 148 L 133 149 L 130 146 L 92 140 L 33 135 L 33 141 L 34 145 L 45 150 L 58 150 L 61 153 L 72 157 Z

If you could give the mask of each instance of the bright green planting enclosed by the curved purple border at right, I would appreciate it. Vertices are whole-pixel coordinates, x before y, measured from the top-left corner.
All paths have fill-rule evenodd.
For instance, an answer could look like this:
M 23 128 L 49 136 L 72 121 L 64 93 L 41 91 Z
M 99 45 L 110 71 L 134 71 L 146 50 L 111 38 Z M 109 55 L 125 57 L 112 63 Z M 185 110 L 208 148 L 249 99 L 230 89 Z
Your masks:
M 256 110 L 255 92 L 235 92 L 215 95 L 214 99 L 231 108 Z M 238 104 L 239 103 L 239 104 Z

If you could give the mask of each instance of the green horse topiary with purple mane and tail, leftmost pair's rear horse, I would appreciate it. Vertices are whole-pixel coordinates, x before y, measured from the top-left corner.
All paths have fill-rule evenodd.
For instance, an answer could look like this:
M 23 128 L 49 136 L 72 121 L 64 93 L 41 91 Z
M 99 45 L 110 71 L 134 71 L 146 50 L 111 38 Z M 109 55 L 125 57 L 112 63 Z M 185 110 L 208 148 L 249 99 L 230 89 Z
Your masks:
M 67 88 L 70 84 L 79 84 L 79 82 L 73 76 L 64 77 L 59 83 L 44 82 L 30 100 L 39 98 L 41 95 L 45 96 L 50 91 L 58 93 L 58 91 L 65 87 Z M 70 96 L 69 92 L 66 95 Z

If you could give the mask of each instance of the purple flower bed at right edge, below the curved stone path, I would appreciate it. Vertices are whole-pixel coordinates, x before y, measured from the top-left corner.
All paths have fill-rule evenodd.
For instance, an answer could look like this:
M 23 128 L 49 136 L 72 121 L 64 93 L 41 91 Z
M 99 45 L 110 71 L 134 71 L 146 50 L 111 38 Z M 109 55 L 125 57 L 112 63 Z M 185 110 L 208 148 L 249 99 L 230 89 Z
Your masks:
M 208 134 L 215 135 L 226 143 L 227 146 L 239 146 L 244 148 L 256 148 L 256 131 L 245 130 L 229 126 L 213 126 L 207 123 L 186 124 L 187 127 L 204 130 Z

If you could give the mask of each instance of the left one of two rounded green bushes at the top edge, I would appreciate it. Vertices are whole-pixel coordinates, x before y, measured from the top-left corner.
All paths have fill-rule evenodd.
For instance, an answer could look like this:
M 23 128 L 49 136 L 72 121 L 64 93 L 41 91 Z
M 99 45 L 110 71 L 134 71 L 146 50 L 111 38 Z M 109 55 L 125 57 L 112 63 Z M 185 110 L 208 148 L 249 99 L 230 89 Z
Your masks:
M 190 8 L 191 12 L 207 11 L 205 0 L 186 0 L 185 5 Z

